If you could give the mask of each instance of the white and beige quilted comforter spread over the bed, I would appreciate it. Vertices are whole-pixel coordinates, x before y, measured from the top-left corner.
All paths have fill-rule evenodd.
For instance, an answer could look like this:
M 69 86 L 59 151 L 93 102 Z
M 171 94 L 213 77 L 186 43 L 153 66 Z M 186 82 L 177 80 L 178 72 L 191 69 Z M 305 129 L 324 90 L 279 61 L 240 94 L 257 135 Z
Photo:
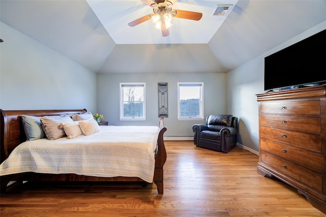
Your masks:
M 0 175 L 74 173 L 152 182 L 158 133 L 154 126 L 100 126 L 100 132 L 90 136 L 26 141 L 0 165 Z

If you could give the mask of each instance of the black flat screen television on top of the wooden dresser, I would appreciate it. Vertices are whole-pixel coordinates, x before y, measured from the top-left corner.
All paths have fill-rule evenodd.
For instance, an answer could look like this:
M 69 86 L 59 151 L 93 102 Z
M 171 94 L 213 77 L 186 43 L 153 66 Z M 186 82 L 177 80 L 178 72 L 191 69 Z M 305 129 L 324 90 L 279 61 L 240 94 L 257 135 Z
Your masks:
M 264 90 L 326 83 L 326 29 L 265 57 Z

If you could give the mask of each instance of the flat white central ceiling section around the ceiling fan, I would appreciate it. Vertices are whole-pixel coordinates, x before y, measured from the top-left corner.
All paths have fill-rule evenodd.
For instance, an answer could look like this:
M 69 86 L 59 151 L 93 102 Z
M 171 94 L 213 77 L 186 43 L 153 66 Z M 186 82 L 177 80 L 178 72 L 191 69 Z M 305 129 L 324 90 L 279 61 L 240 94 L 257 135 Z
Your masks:
M 238 0 L 190 1 L 179 0 L 172 9 L 202 13 L 199 21 L 173 18 L 170 35 L 162 37 L 151 20 L 134 27 L 127 24 L 153 13 L 153 9 L 140 0 L 94 1 L 87 0 L 98 19 L 116 44 L 207 44 L 222 25 Z M 217 5 L 231 5 L 225 16 L 212 16 Z

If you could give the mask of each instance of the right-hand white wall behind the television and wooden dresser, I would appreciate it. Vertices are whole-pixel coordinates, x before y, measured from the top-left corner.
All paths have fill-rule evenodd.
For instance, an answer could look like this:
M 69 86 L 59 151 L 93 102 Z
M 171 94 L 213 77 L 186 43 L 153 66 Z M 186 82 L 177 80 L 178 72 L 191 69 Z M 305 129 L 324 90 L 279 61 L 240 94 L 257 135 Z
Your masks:
M 239 117 L 238 143 L 258 153 L 259 124 L 256 94 L 264 92 L 264 57 L 326 29 L 326 21 L 282 43 L 227 74 L 228 113 Z M 307 72 L 309 74 L 309 72 Z M 324 72 L 321 72 L 324 73 Z M 284 79 L 284 78 L 282 78 Z

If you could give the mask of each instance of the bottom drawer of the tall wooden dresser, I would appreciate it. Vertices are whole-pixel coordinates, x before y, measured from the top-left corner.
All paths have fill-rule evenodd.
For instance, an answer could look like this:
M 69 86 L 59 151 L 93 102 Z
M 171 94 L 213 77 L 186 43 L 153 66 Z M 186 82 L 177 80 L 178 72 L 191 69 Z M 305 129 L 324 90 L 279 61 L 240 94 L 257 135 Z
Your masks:
M 261 163 L 280 172 L 290 179 L 294 179 L 295 181 L 301 182 L 318 192 L 322 192 L 322 176 L 317 172 L 278 158 L 265 151 L 261 151 Z

